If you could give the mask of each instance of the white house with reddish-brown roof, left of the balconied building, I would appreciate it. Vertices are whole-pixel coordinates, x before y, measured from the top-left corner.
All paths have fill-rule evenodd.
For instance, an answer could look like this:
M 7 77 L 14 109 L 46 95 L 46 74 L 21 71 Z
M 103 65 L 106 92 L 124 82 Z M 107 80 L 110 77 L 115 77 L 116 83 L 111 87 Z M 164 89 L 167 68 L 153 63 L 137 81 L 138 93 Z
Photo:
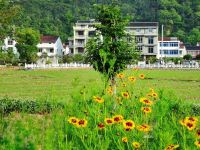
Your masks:
M 40 57 L 38 64 L 45 64 L 47 62 L 58 64 L 59 57 L 63 55 L 63 45 L 58 36 L 41 36 L 40 43 L 37 45 Z

